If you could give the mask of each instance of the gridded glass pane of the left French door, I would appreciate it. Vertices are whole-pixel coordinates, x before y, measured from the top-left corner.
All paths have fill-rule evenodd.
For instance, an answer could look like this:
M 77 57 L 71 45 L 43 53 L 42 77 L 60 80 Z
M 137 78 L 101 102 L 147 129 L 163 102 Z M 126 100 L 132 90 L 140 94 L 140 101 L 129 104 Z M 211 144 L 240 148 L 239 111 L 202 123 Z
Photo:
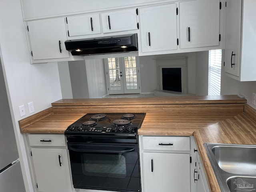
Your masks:
M 108 58 L 110 90 L 121 90 L 119 58 Z

